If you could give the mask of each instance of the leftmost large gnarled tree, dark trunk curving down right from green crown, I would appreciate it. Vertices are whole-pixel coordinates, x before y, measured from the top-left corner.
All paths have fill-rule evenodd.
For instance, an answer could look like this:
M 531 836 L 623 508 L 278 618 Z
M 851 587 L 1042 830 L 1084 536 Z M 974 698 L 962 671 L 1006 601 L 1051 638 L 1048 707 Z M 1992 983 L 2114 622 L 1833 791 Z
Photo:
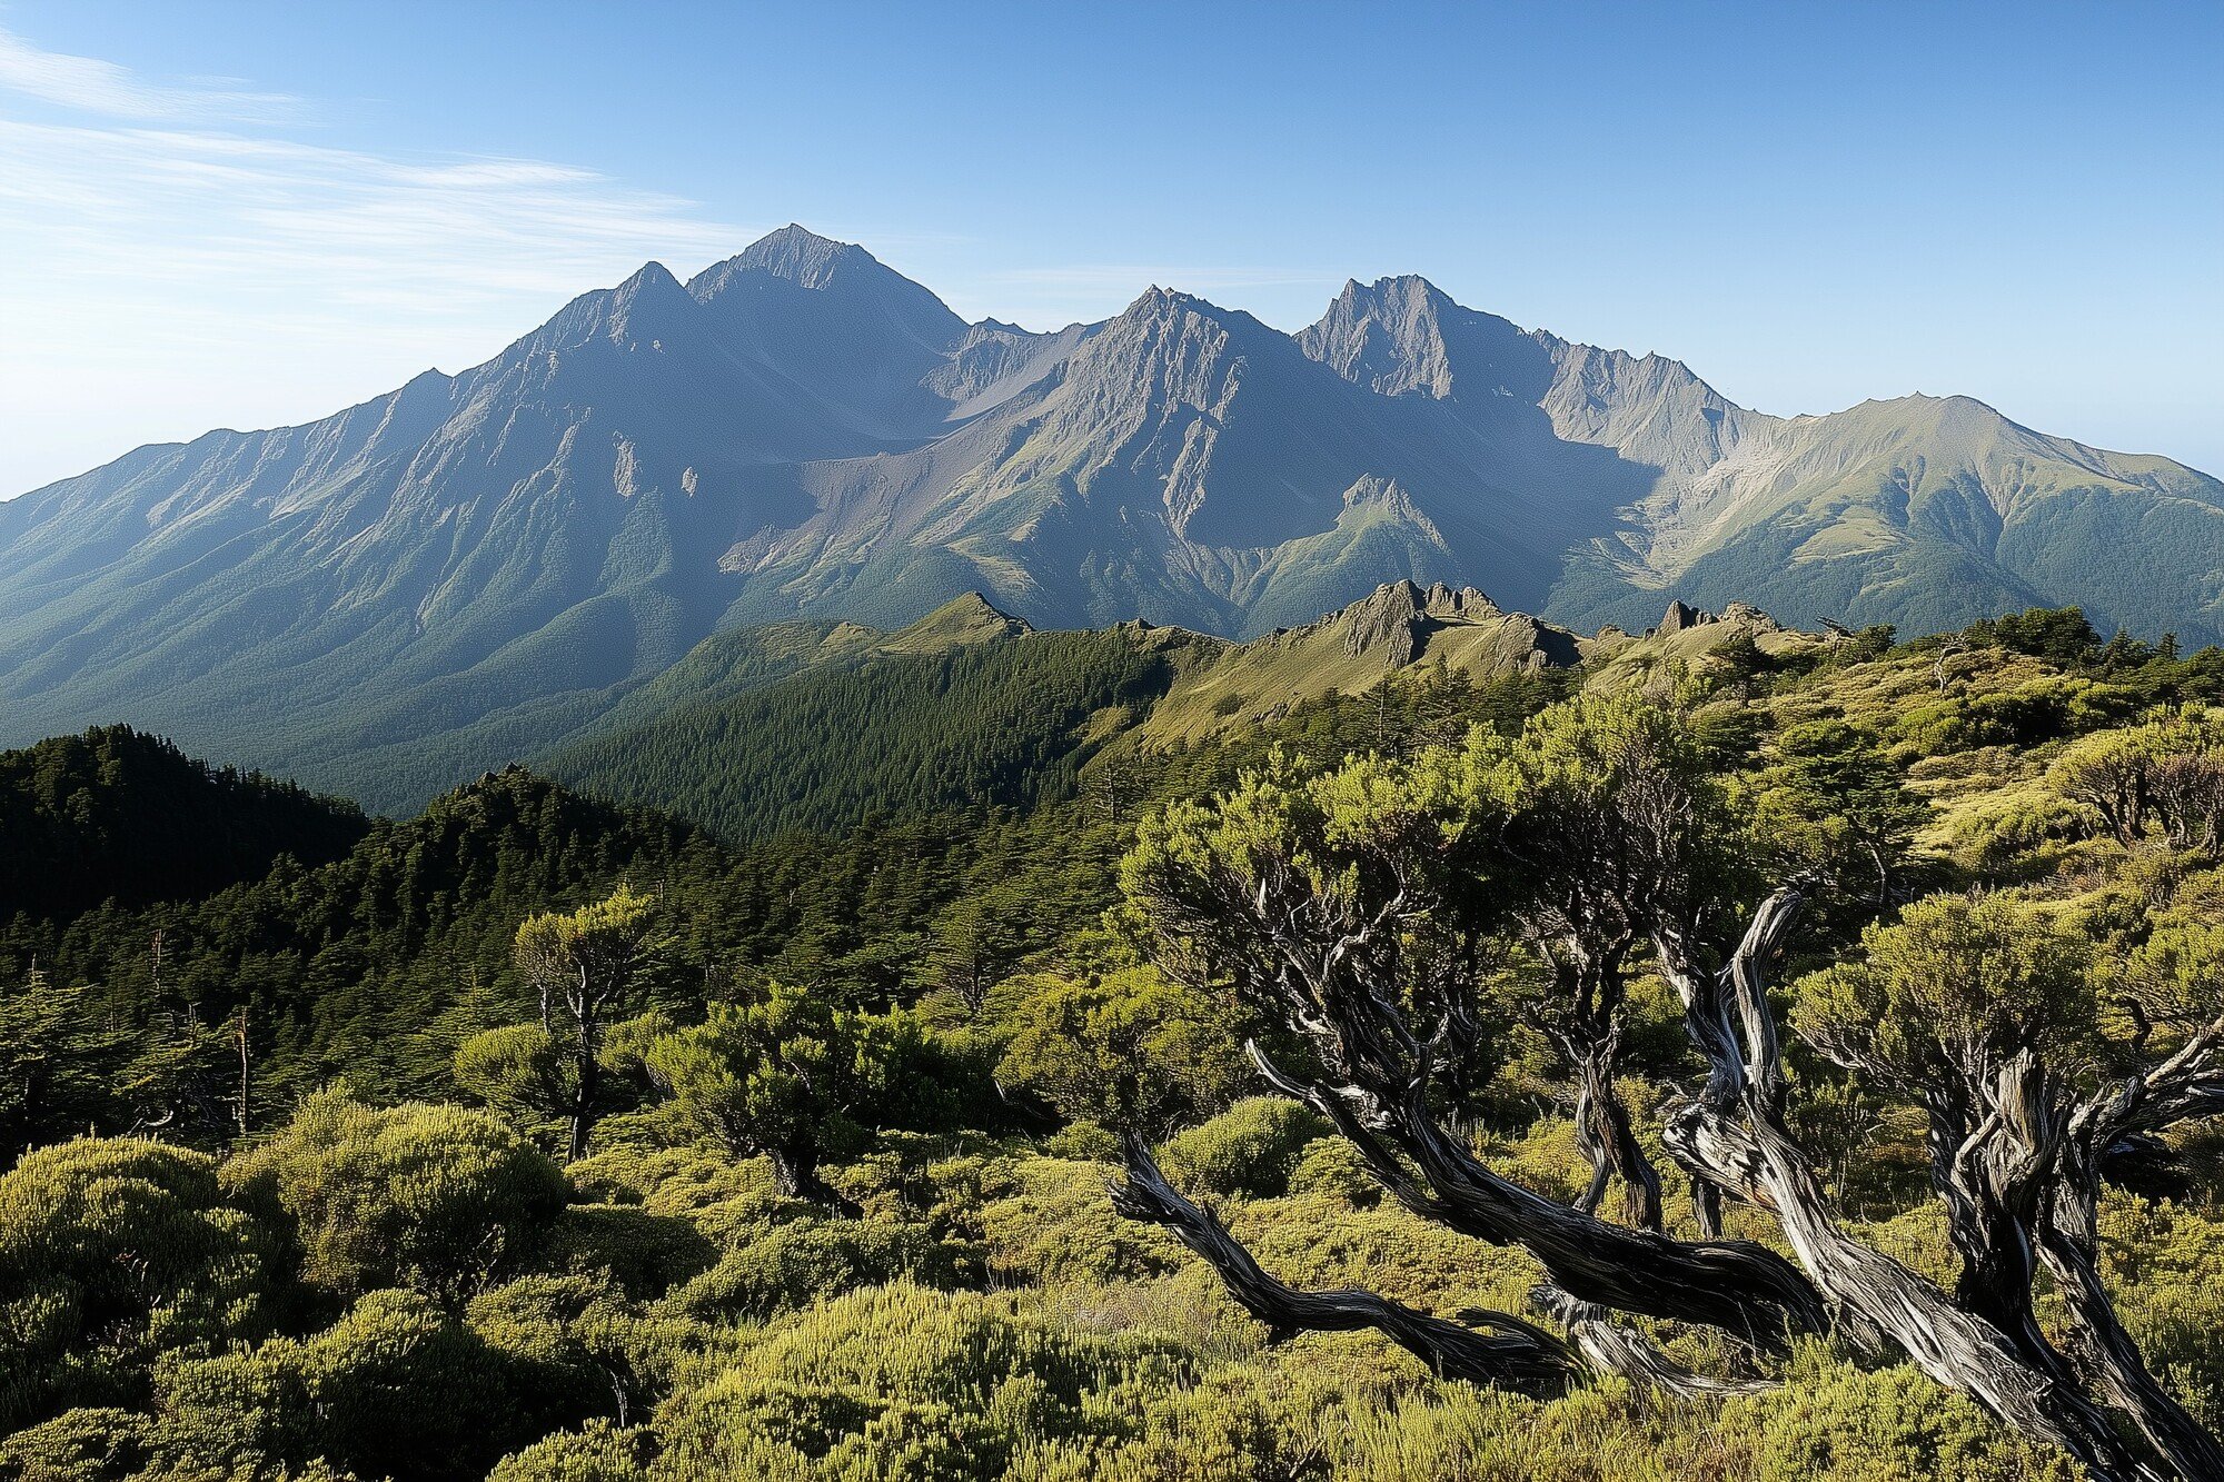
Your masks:
M 1724 1328 L 1757 1346 L 1826 1326 L 1813 1284 L 1753 1242 L 1679 1242 L 1568 1208 L 1488 1168 L 1439 1115 L 1439 1068 L 1486 1050 L 1423 979 L 1472 930 L 1501 812 L 1495 757 L 1350 763 L 1310 783 L 1248 779 L 1214 808 L 1148 821 L 1125 861 L 1159 966 L 1232 986 L 1294 1030 L 1310 1070 L 1261 1068 L 1328 1117 L 1414 1213 L 1526 1246 L 1579 1302 Z

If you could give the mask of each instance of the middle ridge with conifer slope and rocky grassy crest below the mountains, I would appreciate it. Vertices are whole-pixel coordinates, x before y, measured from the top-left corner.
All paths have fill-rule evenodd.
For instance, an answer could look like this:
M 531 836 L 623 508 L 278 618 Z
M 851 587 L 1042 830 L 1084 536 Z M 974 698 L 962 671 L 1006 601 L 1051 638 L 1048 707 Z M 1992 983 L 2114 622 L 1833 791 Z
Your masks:
M 1410 581 L 1250 643 L 1152 623 L 1034 632 L 979 594 L 883 634 L 741 628 L 705 641 L 589 734 L 536 765 L 585 792 L 667 808 L 727 839 L 827 832 L 872 814 L 1030 812 L 1081 774 L 1163 768 L 1168 752 L 1272 725 L 1292 710 L 1399 683 L 1552 694 L 1592 665 L 1644 685 L 1721 645 L 1821 656 L 1839 639 L 1732 603 L 1675 605 L 1657 630 L 1583 639 L 1488 596 Z M 696 699 L 681 699 L 681 696 Z

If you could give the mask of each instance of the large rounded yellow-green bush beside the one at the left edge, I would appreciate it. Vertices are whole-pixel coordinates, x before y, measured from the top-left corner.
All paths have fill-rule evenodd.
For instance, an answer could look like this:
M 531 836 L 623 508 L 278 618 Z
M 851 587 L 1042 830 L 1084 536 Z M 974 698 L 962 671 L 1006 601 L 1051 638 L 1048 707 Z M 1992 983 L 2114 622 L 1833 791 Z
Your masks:
M 316 1286 L 449 1302 L 514 1271 L 569 1197 L 563 1170 L 485 1113 L 371 1108 L 345 1088 L 311 1097 L 225 1182 L 291 1235 Z

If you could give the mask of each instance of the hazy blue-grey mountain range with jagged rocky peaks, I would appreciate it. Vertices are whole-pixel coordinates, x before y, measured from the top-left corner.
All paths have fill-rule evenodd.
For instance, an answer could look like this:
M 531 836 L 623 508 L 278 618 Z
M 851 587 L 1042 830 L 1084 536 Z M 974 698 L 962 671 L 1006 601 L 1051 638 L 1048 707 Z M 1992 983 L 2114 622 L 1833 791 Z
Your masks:
M 1572 632 L 1670 596 L 1904 632 L 2079 603 L 2208 643 L 2224 485 L 1968 398 L 1766 416 L 1410 276 L 1294 336 L 1159 287 L 965 323 L 785 227 L 458 376 L 0 503 L 0 745 L 129 721 L 403 806 L 681 703 L 738 625 L 979 590 L 1248 639 L 1408 579 Z

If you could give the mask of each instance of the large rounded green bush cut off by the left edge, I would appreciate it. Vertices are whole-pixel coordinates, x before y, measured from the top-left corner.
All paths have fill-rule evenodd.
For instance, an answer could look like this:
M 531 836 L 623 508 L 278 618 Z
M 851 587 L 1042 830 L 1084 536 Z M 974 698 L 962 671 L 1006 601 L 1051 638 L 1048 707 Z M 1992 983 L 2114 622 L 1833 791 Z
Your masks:
M 269 1244 L 202 1153 L 116 1137 L 24 1157 L 0 1175 L 0 1433 L 133 1402 L 162 1351 L 267 1331 Z

